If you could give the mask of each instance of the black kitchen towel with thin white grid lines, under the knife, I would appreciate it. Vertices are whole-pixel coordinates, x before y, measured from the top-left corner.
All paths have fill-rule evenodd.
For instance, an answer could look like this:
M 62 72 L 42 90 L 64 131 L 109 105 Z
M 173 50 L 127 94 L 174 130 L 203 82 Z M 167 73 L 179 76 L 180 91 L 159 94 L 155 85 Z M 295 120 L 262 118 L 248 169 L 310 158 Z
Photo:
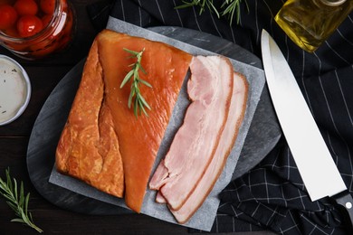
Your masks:
M 223 1 L 214 2 L 220 5 Z M 352 192 L 353 14 L 319 50 L 308 53 L 291 42 L 273 20 L 283 0 L 247 0 L 247 5 L 243 2 L 240 23 L 234 20 L 232 26 L 226 18 L 218 19 L 207 9 L 203 14 L 199 14 L 198 7 L 175 9 L 182 4 L 180 0 L 105 0 L 102 8 L 100 4 L 91 5 L 88 11 L 98 30 L 106 24 L 107 9 L 111 9 L 111 16 L 141 27 L 170 25 L 212 33 L 259 58 L 262 28 L 267 30 L 290 63 L 339 172 Z M 344 216 L 334 203 L 328 198 L 310 201 L 284 138 L 261 164 L 230 183 L 220 197 L 213 231 L 348 234 Z

